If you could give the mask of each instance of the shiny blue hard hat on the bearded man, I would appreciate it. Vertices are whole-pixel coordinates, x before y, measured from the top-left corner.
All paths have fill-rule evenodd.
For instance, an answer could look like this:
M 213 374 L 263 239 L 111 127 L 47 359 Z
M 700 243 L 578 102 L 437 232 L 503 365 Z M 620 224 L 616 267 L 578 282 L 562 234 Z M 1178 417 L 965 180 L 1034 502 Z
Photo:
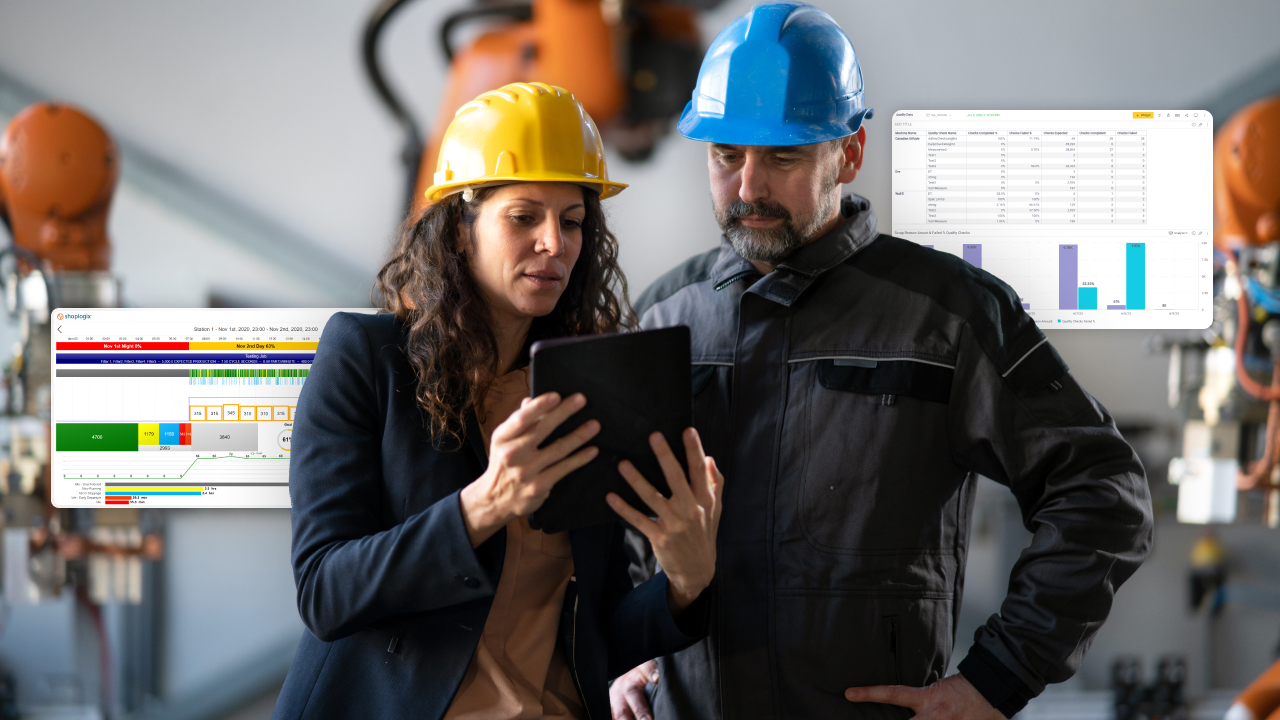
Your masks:
M 724 145 L 809 145 L 858 132 L 863 72 L 836 20 L 805 3 L 760 3 L 712 41 L 676 126 Z

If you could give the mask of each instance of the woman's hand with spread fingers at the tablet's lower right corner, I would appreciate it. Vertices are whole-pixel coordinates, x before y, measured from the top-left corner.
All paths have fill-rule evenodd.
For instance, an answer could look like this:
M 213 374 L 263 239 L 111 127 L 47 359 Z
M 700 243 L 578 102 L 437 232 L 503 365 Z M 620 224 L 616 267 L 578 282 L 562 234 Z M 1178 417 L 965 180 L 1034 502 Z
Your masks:
M 716 532 L 719 529 L 721 495 L 724 489 L 724 477 L 716 468 L 716 460 L 703 454 L 698 430 L 687 428 L 684 441 L 690 480 L 685 479 L 685 470 L 662 433 L 649 436 L 649 445 L 671 487 L 669 498 L 654 489 L 635 465 L 626 460 L 618 464 L 627 484 L 658 515 L 657 521 L 617 495 L 611 492 L 605 496 L 614 512 L 649 538 L 658 564 L 667 573 L 667 602 L 672 615 L 680 615 L 698 600 L 716 575 Z

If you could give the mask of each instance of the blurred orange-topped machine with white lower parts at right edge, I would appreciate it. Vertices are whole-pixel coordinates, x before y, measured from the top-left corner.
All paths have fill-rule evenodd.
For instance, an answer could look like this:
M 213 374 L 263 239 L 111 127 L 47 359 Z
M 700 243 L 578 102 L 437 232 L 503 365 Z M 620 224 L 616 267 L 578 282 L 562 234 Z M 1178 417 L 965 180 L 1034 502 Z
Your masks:
M 1185 418 L 1169 468 L 1178 519 L 1280 527 L 1280 97 L 1245 106 L 1213 143 L 1213 324 L 1165 342 Z

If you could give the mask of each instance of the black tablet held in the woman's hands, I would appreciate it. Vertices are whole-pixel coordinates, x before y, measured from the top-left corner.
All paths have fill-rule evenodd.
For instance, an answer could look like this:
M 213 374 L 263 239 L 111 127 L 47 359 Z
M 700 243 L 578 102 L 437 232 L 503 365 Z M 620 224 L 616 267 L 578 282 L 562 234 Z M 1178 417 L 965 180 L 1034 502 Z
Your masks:
M 614 520 L 618 515 L 604 502 L 609 492 L 652 516 L 618 473 L 618 462 L 630 460 L 650 484 L 671 496 L 649 436 L 662 432 L 686 465 L 681 433 L 694 424 L 689 328 L 539 341 L 530 350 L 529 366 L 532 397 L 545 392 L 586 396 L 586 406 L 556 428 L 548 443 L 593 418 L 600 421 L 599 434 L 588 442 L 600 454 L 557 483 L 529 524 L 558 533 Z

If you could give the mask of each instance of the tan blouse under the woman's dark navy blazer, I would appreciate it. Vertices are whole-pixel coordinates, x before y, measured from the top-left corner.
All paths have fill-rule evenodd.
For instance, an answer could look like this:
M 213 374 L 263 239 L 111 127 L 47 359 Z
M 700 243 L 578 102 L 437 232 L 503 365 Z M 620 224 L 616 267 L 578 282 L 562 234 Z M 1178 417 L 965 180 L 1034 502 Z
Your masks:
M 480 432 L 529 395 L 529 375 L 508 373 L 485 396 Z M 573 575 L 568 533 L 547 534 L 520 518 L 507 524 L 507 555 L 480 644 L 445 720 L 580 720 L 586 716 L 557 643 L 564 589 Z

